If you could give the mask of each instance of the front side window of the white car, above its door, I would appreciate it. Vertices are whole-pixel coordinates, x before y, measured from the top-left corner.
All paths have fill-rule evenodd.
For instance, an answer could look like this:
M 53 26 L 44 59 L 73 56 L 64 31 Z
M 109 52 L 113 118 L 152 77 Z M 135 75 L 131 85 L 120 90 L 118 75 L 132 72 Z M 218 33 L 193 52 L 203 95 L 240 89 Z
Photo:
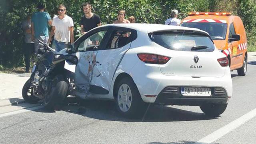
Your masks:
M 106 32 L 106 30 L 96 32 L 95 34 L 92 34 L 91 36 L 83 40 L 79 44 L 77 52 L 91 51 L 96 46 L 99 46 Z

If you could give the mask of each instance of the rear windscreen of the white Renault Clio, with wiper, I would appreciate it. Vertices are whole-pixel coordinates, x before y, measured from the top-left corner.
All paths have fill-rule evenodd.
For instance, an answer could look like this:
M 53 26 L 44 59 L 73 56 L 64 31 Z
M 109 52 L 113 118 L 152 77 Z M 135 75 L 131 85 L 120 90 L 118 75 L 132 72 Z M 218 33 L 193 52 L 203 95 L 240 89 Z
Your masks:
M 149 36 L 153 42 L 170 50 L 212 52 L 215 48 L 209 36 L 197 32 L 153 32 L 153 36 L 152 33 Z

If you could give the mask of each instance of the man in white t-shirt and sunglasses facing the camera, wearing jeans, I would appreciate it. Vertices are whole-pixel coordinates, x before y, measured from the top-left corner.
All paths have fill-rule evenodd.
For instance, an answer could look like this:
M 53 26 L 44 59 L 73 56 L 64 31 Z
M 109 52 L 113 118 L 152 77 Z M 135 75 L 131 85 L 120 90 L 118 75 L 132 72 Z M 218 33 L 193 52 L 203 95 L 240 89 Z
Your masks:
M 58 16 L 55 16 L 52 20 L 52 30 L 50 32 L 50 38 L 48 42 L 51 42 L 52 36 L 54 40 L 52 42 L 52 48 L 57 52 L 66 48 L 68 43 L 74 42 L 74 23 L 72 18 L 66 14 L 66 6 L 60 4 L 58 7 Z

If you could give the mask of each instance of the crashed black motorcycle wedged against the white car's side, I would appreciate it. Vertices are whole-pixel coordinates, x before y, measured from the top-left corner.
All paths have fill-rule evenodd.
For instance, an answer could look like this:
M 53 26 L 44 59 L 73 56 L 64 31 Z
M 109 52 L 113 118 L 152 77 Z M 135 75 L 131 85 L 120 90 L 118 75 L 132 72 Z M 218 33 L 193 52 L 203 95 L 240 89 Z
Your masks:
M 37 55 L 30 78 L 22 88 L 23 99 L 31 104 L 44 100 L 47 109 L 54 109 L 75 89 L 74 80 L 68 75 L 75 72 L 78 58 L 71 54 L 58 54 L 38 40 L 44 48 Z

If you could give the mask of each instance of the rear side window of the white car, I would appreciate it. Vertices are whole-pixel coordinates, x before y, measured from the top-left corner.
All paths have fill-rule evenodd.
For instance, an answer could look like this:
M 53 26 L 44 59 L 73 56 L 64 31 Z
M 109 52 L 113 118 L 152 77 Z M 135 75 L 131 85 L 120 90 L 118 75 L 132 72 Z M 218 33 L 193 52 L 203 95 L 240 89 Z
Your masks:
M 121 48 L 132 41 L 132 32 L 127 30 L 116 30 L 110 38 L 110 45 L 108 49 Z

